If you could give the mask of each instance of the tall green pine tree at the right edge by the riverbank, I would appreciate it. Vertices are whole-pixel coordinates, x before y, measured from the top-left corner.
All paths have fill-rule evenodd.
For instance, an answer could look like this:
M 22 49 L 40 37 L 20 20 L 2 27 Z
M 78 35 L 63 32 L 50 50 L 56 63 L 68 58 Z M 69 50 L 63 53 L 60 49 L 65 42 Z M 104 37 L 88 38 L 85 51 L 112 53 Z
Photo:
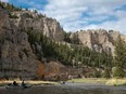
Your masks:
M 122 78 L 124 77 L 124 65 L 126 63 L 126 45 L 125 42 L 122 40 L 121 36 L 115 44 L 115 56 L 114 56 L 114 66 L 115 69 L 113 71 L 113 77 Z

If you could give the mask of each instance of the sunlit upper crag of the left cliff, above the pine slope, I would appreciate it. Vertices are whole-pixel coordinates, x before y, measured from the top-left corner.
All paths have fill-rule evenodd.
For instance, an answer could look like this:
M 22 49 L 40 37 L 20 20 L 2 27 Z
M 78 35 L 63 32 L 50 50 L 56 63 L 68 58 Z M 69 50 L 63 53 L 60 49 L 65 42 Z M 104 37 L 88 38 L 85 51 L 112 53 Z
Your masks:
M 50 39 L 63 41 L 64 30 L 56 19 L 49 18 L 29 11 L 12 12 L 18 18 L 10 18 L 11 24 L 26 30 L 33 29 L 42 32 Z

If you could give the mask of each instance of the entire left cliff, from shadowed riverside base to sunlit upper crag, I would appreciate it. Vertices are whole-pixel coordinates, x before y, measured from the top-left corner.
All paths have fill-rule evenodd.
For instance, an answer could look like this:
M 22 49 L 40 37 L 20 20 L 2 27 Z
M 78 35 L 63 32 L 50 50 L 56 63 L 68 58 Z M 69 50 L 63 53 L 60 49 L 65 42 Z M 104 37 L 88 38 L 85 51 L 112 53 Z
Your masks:
M 0 8 L 0 78 L 37 78 L 40 62 L 33 53 L 27 30 L 39 31 L 50 39 L 62 41 L 64 30 L 52 18 L 39 17 L 28 11 L 9 12 Z

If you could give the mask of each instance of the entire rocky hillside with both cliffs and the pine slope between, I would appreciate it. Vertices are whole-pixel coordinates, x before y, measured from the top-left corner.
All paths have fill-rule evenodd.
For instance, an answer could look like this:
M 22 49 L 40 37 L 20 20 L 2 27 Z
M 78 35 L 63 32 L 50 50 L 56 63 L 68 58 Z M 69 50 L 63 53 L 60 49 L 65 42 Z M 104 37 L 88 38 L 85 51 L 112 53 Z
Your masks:
M 119 36 L 126 41 L 113 30 L 65 32 L 56 19 L 0 2 L 0 78 L 101 77 Z

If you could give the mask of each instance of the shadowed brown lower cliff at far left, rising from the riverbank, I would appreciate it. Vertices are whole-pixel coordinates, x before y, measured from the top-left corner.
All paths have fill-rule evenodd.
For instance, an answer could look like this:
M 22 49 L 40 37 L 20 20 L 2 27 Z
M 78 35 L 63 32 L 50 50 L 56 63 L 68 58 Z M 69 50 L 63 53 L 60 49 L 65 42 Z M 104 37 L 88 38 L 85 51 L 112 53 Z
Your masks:
M 8 12 L 0 9 L 0 77 L 36 77 L 37 63 L 26 32 L 10 22 Z

